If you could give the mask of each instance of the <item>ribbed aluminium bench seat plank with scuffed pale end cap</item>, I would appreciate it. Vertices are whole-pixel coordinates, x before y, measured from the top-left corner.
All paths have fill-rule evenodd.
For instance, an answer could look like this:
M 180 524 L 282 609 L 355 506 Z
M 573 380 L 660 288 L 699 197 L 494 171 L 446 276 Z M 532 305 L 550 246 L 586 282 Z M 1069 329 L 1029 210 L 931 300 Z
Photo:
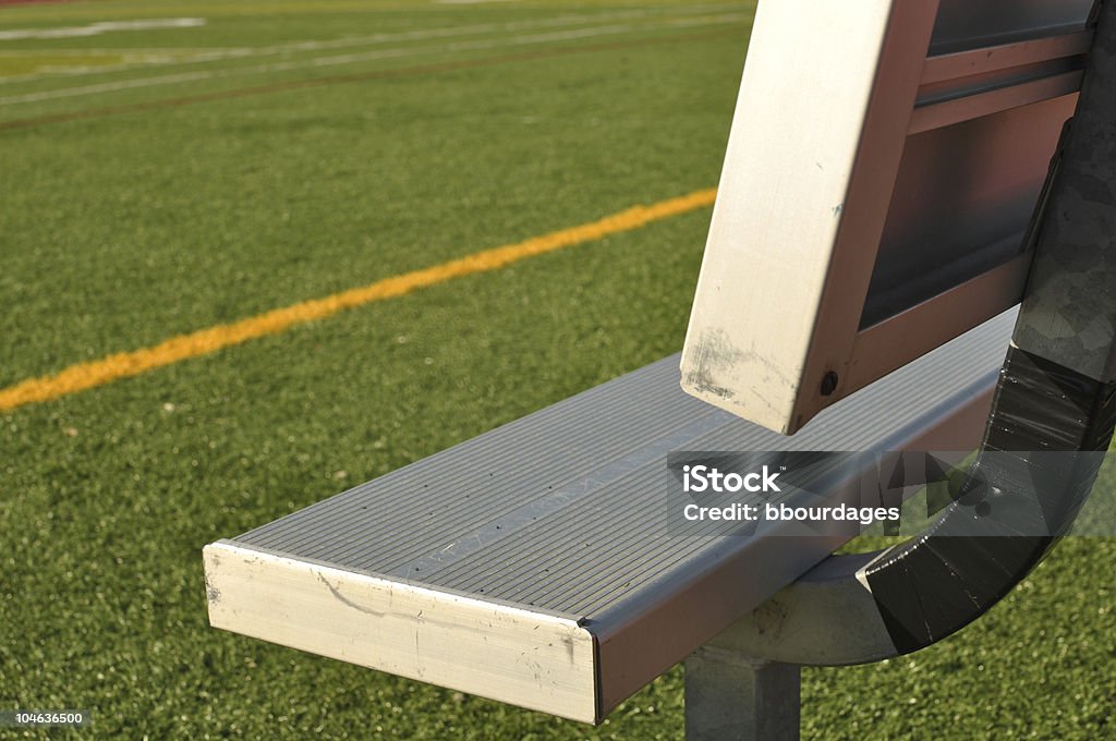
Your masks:
M 209 546 L 211 622 L 597 721 L 839 545 L 679 535 L 668 453 L 974 446 L 1011 326 L 978 327 L 793 437 L 685 395 L 664 358 Z

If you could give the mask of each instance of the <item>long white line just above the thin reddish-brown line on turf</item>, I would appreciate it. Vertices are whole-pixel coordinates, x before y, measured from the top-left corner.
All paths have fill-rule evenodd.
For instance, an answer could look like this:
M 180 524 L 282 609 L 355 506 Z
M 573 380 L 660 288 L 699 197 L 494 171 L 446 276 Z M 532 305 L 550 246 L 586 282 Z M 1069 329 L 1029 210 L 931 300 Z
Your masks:
M 417 57 L 425 55 L 442 54 L 446 51 L 466 51 L 478 49 L 493 49 L 503 46 L 530 46 L 536 44 L 548 44 L 551 41 L 562 41 L 569 39 L 589 38 L 594 36 L 622 35 L 637 30 L 654 30 L 664 27 L 692 27 L 713 26 L 720 23 L 731 23 L 748 18 L 747 13 L 719 13 L 712 16 L 699 16 L 693 18 L 681 18 L 666 23 L 654 26 L 633 26 L 631 23 L 597 26 L 568 31 L 552 31 L 549 33 L 535 33 L 528 36 L 511 36 L 494 39 L 478 39 L 472 41 L 459 41 L 456 44 L 437 44 L 417 47 L 401 47 L 392 49 L 377 49 L 375 51 L 364 51 L 356 54 L 334 55 L 327 57 L 312 57 L 310 59 L 299 59 L 291 61 L 256 65 L 252 67 L 239 67 L 234 69 L 198 70 L 192 73 L 180 73 L 175 75 L 160 75 L 155 77 L 144 77 L 131 80 L 117 80 L 113 83 L 102 83 L 98 85 L 85 85 L 81 87 L 64 88 L 58 90 L 46 90 L 41 93 L 29 93 L 25 95 L 11 95 L 0 97 L 0 106 L 18 105 L 23 103 L 39 103 L 42 100 L 57 100 L 61 98 L 81 97 L 97 95 L 99 93 L 112 93 L 141 87 L 156 87 L 163 85 L 175 85 L 179 83 L 191 83 L 208 79 L 243 77 L 250 75 L 263 75 L 268 73 L 289 71 L 294 69 L 312 69 L 317 67 L 328 67 L 335 65 L 347 65 L 359 61 L 372 61 L 376 59 L 397 59 L 404 57 Z

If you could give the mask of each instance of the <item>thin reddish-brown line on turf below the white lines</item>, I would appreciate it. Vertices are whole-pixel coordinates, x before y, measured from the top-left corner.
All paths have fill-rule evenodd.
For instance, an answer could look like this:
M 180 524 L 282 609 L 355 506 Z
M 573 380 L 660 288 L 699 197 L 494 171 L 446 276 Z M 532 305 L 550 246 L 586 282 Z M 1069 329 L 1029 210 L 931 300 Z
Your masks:
M 3 2 L 4 0 L 0 0 Z M 368 73 L 352 73 L 348 75 L 330 75 L 328 77 L 316 77 L 306 80 L 289 80 L 285 83 L 270 83 L 267 85 L 253 85 L 251 87 L 240 87 L 232 90 L 219 90 L 215 93 L 200 93 L 196 95 L 185 95 L 175 98 L 163 98 L 160 100 L 148 100 L 145 103 L 129 103 L 118 106 L 106 106 L 103 108 L 89 108 L 86 110 L 74 110 L 67 113 L 48 114 L 45 116 L 33 116 L 30 118 L 12 118 L 0 121 L 0 131 L 15 128 L 30 128 L 45 124 L 58 124 L 70 121 L 84 121 L 86 118 L 100 118 L 103 116 L 114 116 L 127 113 L 142 113 L 145 110 L 160 110 L 163 108 L 175 108 L 179 106 L 193 105 L 196 103 L 210 103 L 213 100 L 228 100 L 232 98 L 247 98 L 253 95 L 267 95 L 269 93 L 280 93 L 283 90 L 295 90 L 306 87 L 325 87 L 327 85 L 345 85 L 349 83 L 365 83 L 377 79 L 389 79 L 394 77 L 416 77 L 436 73 L 452 71 L 456 69 L 470 69 L 477 67 L 494 67 L 517 61 L 530 61 L 533 59 L 545 59 L 548 57 L 561 57 L 577 54 L 595 54 L 598 51 L 610 51 L 615 49 L 627 49 L 642 46 L 655 46 L 661 44 L 679 44 L 684 41 L 698 41 L 720 38 L 724 36 L 739 36 L 739 30 L 710 31 L 705 33 L 679 33 L 675 36 L 662 36 L 650 39 L 635 39 L 632 41 L 610 41 L 606 44 L 588 44 L 571 47 L 556 47 L 554 49 L 539 49 L 535 51 L 520 51 L 517 54 L 499 55 L 493 57 L 480 57 L 477 59 L 462 59 L 458 61 L 442 61 L 416 67 L 402 67 L 398 69 L 381 69 Z

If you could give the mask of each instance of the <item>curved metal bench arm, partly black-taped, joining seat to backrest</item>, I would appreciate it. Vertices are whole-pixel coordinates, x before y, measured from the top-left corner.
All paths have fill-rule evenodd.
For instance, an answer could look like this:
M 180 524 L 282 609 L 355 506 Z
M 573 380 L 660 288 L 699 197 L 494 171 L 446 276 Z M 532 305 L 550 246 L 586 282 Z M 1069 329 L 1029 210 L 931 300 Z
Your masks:
M 901 546 L 831 557 L 721 645 L 814 665 L 911 653 L 988 612 L 1068 532 L 1116 421 L 1116 0 L 1098 10 L 1077 113 L 1035 219 L 1012 347 L 960 499 Z

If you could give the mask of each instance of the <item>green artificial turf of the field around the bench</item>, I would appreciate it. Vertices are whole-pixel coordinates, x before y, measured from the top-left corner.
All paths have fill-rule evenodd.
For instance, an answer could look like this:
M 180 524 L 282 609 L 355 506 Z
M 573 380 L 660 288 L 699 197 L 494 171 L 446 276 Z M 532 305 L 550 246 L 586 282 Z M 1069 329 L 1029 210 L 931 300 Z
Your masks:
M 655 4 L 0 8 L 0 29 L 208 21 L 0 41 L 0 387 L 714 185 L 749 25 L 700 18 L 750 6 Z M 357 44 L 474 26 L 470 49 Z M 509 42 L 559 30 L 583 35 Z M 334 47 L 174 60 L 307 40 Z M 127 66 L 78 71 L 93 50 Z M 119 85 L 195 70 L 229 74 Z M 118 89 L 11 100 L 90 85 Z M 0 708 L 89 709 L 55 735 L 90 738 L 680 738 L 679 668 L 591 729 L 210 629 L 201 548 L 677 350 L 708 223 L 0 413 Z M 1116 734 L 1114 561 L 1071 539 L 939 646 L 807 670 L 804 735 Z

